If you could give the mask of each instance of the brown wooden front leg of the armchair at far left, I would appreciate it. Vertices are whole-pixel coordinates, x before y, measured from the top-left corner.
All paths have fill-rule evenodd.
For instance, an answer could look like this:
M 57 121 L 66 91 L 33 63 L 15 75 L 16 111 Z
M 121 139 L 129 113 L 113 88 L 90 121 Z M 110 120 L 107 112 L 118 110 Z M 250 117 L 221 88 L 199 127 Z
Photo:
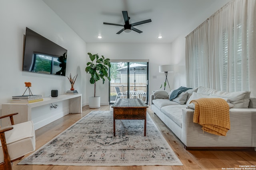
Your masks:
M 12 163 L 11 163 L 11 159 L 8 153 L 8 149 L 7 149 L 7 144 L 6 144 L 6 139 L 5 139 L 5 134 L 4 133 L 0 133 L 0 139 L 1 139 L 1 143 L 2 143 L 2 149 L 3 149 L 3 153 L 4 153 L 4 164 L 3 164 L 3 168 L 4 170 L 12 170 Z

